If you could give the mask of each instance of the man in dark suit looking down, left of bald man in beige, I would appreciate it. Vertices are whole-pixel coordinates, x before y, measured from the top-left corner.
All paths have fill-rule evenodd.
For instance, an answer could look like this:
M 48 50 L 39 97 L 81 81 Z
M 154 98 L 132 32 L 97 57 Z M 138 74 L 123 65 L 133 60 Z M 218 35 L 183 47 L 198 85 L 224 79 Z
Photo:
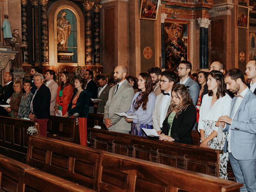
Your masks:
M 94 107 L 97 108 L 97 113 L 104 114 L 104 108 L 106 102 L 108 101 L 110 86 L 107 84 L 106 78 L 103 75 L 98 75 L 96 79 L 99 84 L 97 99 L 100 99 L 102 101 L 93 101 L 93 103 Z

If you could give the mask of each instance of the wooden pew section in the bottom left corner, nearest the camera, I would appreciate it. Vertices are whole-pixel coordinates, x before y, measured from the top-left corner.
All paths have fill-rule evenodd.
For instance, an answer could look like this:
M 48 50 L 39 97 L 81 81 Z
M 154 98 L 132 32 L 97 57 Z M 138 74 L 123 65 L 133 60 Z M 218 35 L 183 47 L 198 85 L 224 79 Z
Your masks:
M 0 191 L 4 192 L 92 192 L 68 180 L 0 155 Z

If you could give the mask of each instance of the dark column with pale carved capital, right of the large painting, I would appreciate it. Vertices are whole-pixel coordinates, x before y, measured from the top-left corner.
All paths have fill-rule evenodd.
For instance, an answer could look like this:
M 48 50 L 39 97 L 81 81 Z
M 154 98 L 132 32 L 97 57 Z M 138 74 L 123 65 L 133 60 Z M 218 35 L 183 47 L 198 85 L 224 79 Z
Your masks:
M 200 25 L 200 68 L 208 69 L 208 27 L 210 20 L 207 18 L 198 18 Z

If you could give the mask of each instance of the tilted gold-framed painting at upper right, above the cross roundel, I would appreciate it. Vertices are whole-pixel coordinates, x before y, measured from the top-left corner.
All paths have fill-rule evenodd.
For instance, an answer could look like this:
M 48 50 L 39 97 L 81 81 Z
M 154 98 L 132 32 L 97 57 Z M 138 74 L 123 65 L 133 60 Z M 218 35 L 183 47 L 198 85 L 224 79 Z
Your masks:
M 248 29 L 249 27 L 249 8 L 245 6 L 237 6 L 236 26 Z

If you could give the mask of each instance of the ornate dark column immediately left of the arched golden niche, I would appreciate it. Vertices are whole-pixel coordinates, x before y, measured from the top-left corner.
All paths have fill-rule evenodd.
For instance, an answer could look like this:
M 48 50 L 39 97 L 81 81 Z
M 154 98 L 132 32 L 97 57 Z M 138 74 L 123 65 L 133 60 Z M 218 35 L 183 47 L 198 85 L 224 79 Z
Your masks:
M 41 62 L 49 62 L 48 59 L 48 24 L 47 24 L 47 3 L 48 0 L 40 0 L 41 11 Z

